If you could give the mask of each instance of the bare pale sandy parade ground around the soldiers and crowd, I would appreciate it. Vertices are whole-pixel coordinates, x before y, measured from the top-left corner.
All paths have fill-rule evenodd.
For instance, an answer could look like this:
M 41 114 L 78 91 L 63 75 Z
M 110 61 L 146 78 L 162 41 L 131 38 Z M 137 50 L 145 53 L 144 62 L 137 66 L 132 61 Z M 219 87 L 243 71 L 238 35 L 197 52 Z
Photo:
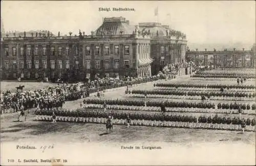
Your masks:
M 183 82 L 193 78 L 180 77 L 171 80 L 172 82 Z M 148 82 L 143 85 L 133 87 L 134 89 L 150 89 L 156 82 Z M 11 87 L 25 85 L 25 90 L 47 87 L 53 84 L 40 82 L 1 82 L 1 90 Z M 11 85 L 11 86 L 10 86 Z M 8 87 L 8 88 L 7 88 Z M 119 90 L 105 92 L 105 98 L 125 98 L 126 87 Z M 90 97 L 91 98 L 91 97 Z M 63 108 L 75 109 L 80 107 L 82 99 L 66 101 Z M 71 142 L 112 142 L 126 143 L 133 141 L 141 142 L 166 142 L 177 144 L 192 143 L 241 143 L 255 146 L 255 132 L 245 132 L 227 130 L 206 130 L 206 129 L 186 129 L 186 128 L 161 128 L 132 126 L 125 128 L 124 125 L 115 125 L 114 132 L 105 133 L 103 124 L 79 124 L 57 122 L 34 121 L 35 115 L 30 114 L 27 121 L 22 117 L 21 122 L 16 122 L 19 113 L 8 113 L 1 115 L 1 142 L 11 142 L 16 140 L 49 140 L 49 141 L 71 141 Z

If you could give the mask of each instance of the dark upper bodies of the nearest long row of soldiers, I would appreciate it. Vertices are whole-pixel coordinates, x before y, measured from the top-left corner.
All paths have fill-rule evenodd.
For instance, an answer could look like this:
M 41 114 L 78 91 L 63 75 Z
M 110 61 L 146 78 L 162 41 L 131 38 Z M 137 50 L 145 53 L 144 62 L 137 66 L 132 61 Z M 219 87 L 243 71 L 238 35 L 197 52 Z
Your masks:
M 214 118 L 211 117 L 204 117 L 200 116 L 199 118 L 196 118 L 195 116 L 187 116 L 187 115 L 162 115 L 162 114 L 143 114 L 143 113 L 123 113 L 123 112 L 114 112 L 113 110 L 111 112 L 105 112 L 102 110 L 94 110 L 94 111 L 84 111 L 82 109 L 78 110 L 56 110 L 51 109 L 47 110 L 45 112 L 41 112 L 40 110 L 37 110 L 35 113 L 36 115 L 47 115 L 51 116 L 52 113 L 55 113 L 56 116 L 62 116 L 62 117 L 84 117 L 84 118 L 109 118 L 113 117 L 113 119 L 127 119 L 129 117 L 131 120 L 148 120 L 148 121 L 172 121 L 172 122 L 190 122 L 190 123 L 212 123 L 212 124 L 235 124 L 240 125 L 243 121 L 246 122 L 246 125 L 255 125 L 255 119 L 239 119 L 239 118 L 221 118 L 218 116 L 215 116 Z

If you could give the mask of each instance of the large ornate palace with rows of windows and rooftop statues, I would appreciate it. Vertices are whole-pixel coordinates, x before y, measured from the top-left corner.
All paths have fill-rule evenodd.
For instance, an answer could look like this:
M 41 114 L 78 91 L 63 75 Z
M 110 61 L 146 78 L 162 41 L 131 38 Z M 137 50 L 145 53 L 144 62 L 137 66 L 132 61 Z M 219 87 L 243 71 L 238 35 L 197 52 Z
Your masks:
M 15 33 L 15 32 L 14 32 Z M 42 35 L 43 34 L 43 35 Z M 104 18 L 90 35 L 2 34 L 3 79 L 143 77 L 185 62 L 185 35 L 161 23 Z M 180 69 L 180 75 L 185 74 Z

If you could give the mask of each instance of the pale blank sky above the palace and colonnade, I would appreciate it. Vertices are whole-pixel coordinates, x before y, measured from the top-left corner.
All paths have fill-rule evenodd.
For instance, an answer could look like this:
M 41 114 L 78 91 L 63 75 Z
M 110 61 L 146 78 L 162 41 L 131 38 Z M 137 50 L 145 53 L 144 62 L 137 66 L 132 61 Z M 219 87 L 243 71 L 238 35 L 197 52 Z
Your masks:
M 135 11 L 99 11 L 98 8 Z M 158 7 L 158 16 L 155 9 Z M 1 1 L 5 31 L 48 30 L 90 35 L 103 17 L 130 24 L 161 22 L 186 34 L 191 47 L 255 43 L 255 1 Z M 194 46 L 195 47 L 195 46 Z

